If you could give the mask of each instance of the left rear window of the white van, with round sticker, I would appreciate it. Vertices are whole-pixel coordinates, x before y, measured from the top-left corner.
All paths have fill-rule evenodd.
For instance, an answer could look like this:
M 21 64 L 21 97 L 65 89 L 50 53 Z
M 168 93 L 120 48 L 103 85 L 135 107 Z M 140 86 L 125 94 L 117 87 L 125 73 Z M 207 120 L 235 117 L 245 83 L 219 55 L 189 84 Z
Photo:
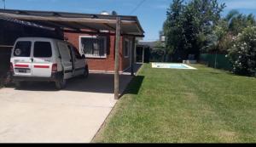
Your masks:
M 30 57 L 32 42 L 17 42 L 15 45 L 14 56 Z

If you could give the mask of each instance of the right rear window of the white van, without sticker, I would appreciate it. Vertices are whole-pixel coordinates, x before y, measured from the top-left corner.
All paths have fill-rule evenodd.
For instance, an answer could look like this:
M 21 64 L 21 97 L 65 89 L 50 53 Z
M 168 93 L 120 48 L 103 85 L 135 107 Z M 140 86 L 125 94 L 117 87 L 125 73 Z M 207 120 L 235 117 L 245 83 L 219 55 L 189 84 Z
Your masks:
M 34 57 L 48 58 L 52 56 L 50 42 L 35 42 Z

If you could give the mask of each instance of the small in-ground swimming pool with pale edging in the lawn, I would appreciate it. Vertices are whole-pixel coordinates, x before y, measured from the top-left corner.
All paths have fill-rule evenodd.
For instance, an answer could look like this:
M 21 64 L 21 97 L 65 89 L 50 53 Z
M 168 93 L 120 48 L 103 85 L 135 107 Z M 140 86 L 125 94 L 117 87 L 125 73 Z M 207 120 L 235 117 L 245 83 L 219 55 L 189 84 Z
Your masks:
M 169 68 L 169 69 L 183 69 L 183 70 L 196 70 L 196 68 L 177 63 L 152 63 L 152 68 Z

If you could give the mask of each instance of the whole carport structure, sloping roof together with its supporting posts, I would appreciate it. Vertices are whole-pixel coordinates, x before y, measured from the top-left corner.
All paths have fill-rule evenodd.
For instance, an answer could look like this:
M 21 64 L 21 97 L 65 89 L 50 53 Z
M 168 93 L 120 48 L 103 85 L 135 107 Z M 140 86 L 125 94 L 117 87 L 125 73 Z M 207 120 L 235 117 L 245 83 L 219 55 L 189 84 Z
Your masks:
M 0 9 L 0 20 L 12 21 L 47 30 L 61 30 L 74 33 L 115 34 L 114 54 L 114 99 L 119 99 L 119 42 L 120 36 L 132 36 L 134 53 L 135 38 L 144 37 L 144 31 L 137 16 L 75 14 L 65 12 L 26 11 Z M 133 59 L 133 57 L 131 58 Z M 131 76 L 133 76 L 131 64 Z

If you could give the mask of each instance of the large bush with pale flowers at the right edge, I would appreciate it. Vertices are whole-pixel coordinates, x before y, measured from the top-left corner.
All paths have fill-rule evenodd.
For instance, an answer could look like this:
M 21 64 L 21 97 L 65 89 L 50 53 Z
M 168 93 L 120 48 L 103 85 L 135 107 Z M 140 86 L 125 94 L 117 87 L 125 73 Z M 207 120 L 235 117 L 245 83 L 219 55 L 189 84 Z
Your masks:
M 234 73 L 256 76 L 256 26 L 247 27 L 233 38 L 233 46 L 228 52 Z

